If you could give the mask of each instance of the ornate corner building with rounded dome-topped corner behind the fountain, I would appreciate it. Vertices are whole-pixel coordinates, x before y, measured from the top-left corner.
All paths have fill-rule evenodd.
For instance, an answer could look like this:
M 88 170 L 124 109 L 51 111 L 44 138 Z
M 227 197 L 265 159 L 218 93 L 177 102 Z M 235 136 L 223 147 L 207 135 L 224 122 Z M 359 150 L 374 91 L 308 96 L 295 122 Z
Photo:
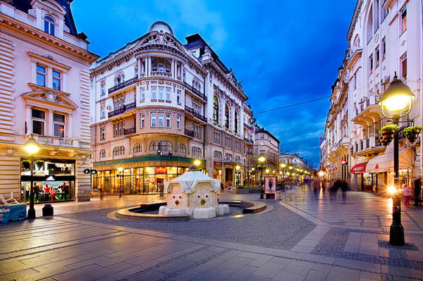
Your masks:
M 223 185 L 251 183 L 247 96 L 200 35 L 185 39 L 159 21 L 92 64 L 92 188 L 159 193 L 195 159 Z

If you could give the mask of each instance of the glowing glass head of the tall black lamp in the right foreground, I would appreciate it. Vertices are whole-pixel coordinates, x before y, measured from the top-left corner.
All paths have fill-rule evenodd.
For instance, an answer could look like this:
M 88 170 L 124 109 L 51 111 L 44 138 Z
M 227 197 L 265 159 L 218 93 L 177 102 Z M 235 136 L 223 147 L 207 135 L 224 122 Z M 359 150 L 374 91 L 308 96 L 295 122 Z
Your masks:
M 394 77 L 388 89 L 381 96 L 379 106 L 386 118 L 401 118 L 410 113 L 415 95 L 403 81 Z

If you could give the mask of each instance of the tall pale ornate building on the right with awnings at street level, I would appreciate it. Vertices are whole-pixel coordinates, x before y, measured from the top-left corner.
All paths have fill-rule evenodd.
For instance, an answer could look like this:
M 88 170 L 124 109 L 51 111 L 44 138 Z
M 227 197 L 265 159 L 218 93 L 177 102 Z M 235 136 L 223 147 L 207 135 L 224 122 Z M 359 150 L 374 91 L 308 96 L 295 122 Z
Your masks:
M 422 125 L 423 46 L 422 40 L 415 40 L 423 33 L 421 11 L 421 1 L 359 0 L 355 6 L 347 35 L 348 51 L 340 68 L 341 75 L 338 75 L 339 84 L 348 95 L 348 138 L 345 144 L 348 144 L 352 189 L 384 192 L 386 186 L 393 184 L 393 144 L 385 147 L 379 142 L 379 129 L 388 120 L 381 115 L 378 101 L 395 75 L 410 87 L 416 97 L 412 111 L 403 120 L 413 120 L 414 125 Z M 328 125 L 333 118 L 337 117 L 330 110 L 325 141 L 321 145 L 322 168 L 326 169 L 331 165 L 340 166 L 339 161 L 330 156 L 337 140 L 331 138 Z M 408 125 L 412 123 L 400 123 L 400 127 Z M 401 185 L 411 187 L 413 180 L 419 177 L 421 149 L 420 140 L 410 144 L 400 134 Z M 339 172 L 333 178 L 339 178 Z

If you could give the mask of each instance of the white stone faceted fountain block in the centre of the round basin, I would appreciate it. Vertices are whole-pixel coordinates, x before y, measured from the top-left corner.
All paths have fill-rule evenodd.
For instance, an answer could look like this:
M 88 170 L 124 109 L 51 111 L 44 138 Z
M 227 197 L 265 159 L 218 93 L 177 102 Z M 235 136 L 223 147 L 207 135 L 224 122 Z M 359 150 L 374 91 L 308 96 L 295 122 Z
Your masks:
M 191 218 L 214 218 L 229 213 L 229 206 L 219 204 L 219 180 L 213 180 L 197 169 L 188 170 L 166 182 L 164 193 L 167 205 L 159 208 L 159 215 L 190 215 Z

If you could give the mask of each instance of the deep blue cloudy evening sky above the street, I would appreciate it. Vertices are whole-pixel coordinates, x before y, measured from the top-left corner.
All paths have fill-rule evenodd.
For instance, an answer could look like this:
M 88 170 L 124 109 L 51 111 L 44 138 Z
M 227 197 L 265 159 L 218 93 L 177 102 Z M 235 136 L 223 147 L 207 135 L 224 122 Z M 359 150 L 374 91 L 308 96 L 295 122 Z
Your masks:
M 356 0 L 75 0 L 73 17 L 90 51 L 106 56 L 145 35 L 157 20 L 180 42 L 200 33 L 242 80 L 254 112 L 331 94 Z M 319 165 L 329 99 L 255 115 L 284 152 Z

